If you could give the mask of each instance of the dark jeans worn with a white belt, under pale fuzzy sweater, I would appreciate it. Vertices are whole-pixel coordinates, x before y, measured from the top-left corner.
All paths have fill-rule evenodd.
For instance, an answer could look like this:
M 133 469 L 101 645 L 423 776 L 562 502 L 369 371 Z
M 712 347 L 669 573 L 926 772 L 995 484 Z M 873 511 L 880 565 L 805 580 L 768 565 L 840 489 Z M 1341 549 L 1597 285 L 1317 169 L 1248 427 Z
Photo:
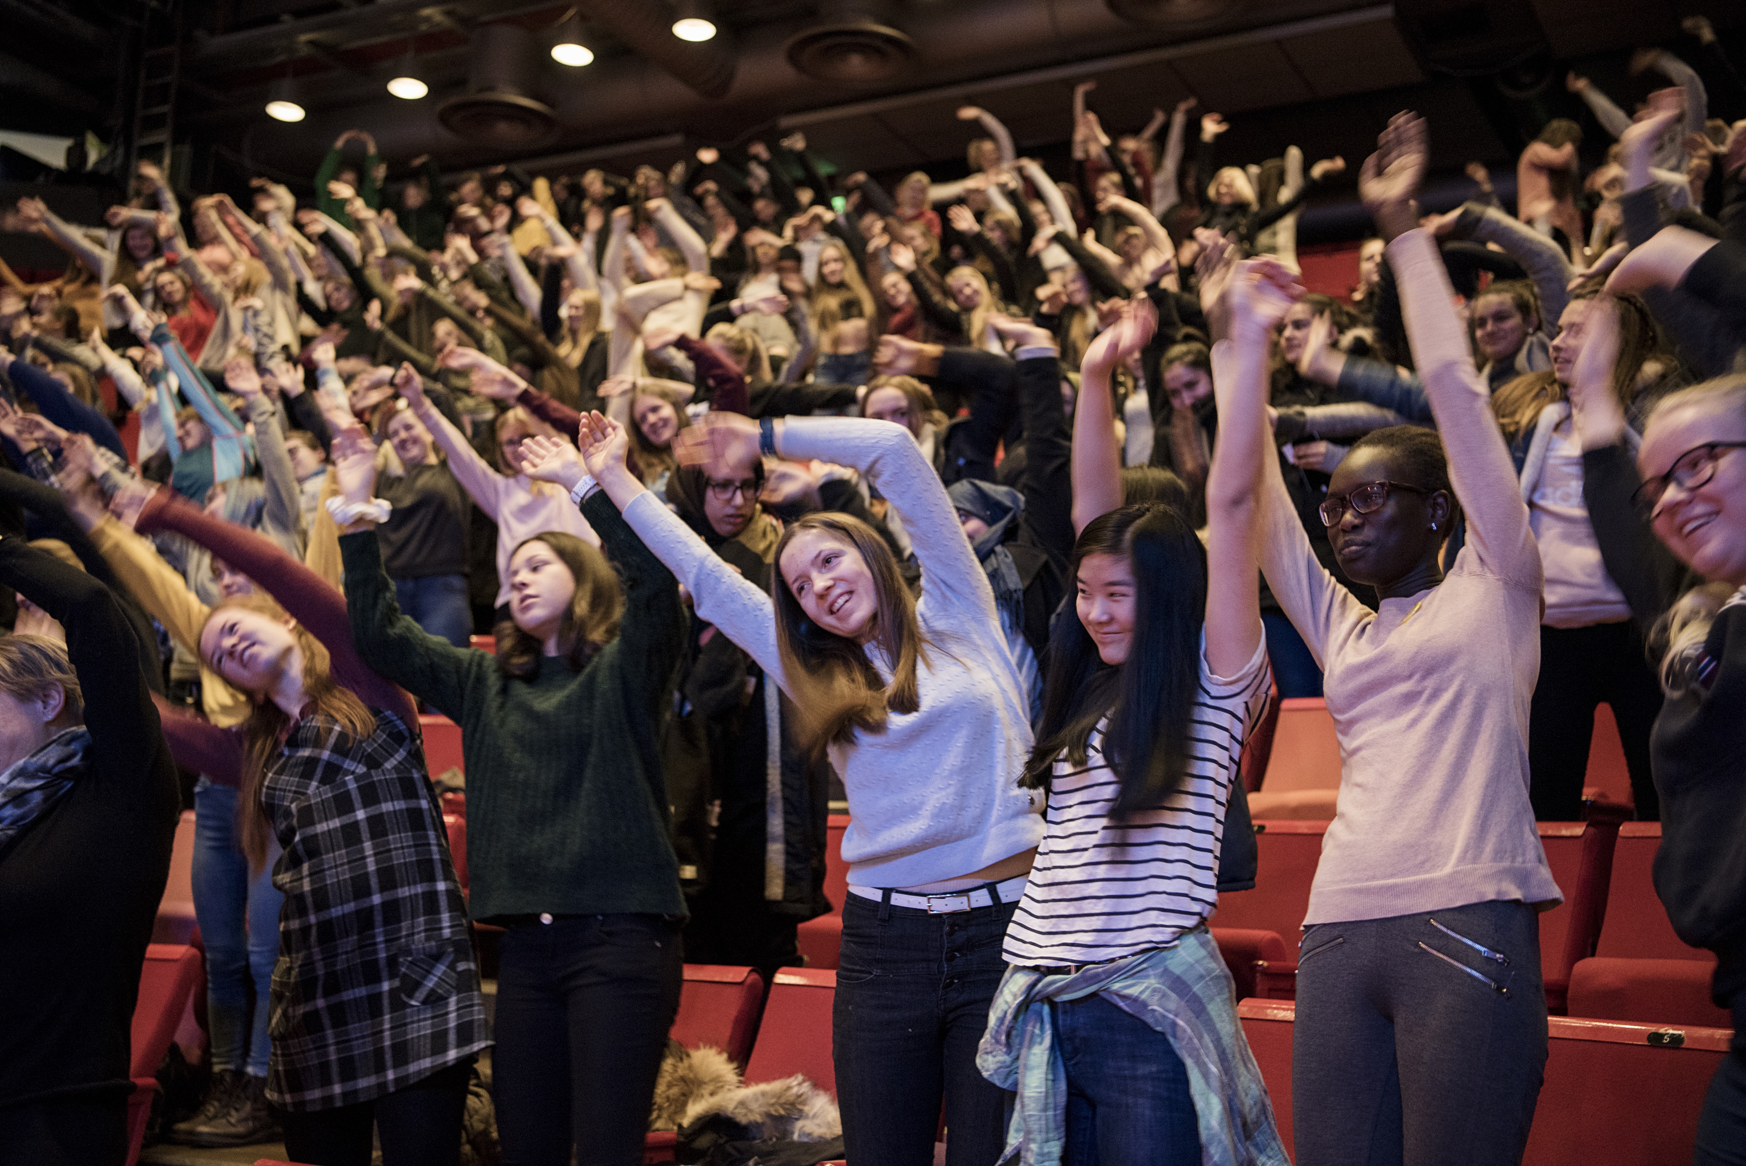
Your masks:
M 852 1163 L 931 1166 L 939 1107 L 946 1166 L 995 1166 L 1007 1093 L 976 1070 L 1016 902 L 929 915 L 849 894 L 833 1058 Z

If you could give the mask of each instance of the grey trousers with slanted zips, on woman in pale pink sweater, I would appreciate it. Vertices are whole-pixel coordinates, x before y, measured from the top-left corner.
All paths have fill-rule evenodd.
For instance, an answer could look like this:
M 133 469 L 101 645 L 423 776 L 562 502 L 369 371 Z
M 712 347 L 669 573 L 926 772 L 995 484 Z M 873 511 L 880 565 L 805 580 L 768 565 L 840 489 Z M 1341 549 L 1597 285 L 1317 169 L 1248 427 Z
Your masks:
M 1545 1075 L 1524 902 L 1316 923 L 1297 955 L 1297 1166 L 1521 1163 Z

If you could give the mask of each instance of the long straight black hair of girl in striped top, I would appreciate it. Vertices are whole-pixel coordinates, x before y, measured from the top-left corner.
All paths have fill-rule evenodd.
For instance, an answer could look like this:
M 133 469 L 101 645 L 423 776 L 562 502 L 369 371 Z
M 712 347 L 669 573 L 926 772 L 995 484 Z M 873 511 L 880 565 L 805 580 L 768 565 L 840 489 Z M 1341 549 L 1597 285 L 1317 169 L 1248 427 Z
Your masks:
M 1090 524 L 1074 543 L 1072 576 L 1088 555 L 1133 566 L 1133 641 L 1128 660 L 1105 665 L 1081 620 L 1056 632 L 1037 745 L 1020 785 L 1048 789 L 1055 759 L 1084 765 L 1086 744 L 1109 714 L 1103 758 L 1121 778 L 1114 817 L 1159 805 L 1180 787 L 1189 721 L 1200 691 L 1206 621 L 1206 548 L 1172 506 L 1138 503 Z

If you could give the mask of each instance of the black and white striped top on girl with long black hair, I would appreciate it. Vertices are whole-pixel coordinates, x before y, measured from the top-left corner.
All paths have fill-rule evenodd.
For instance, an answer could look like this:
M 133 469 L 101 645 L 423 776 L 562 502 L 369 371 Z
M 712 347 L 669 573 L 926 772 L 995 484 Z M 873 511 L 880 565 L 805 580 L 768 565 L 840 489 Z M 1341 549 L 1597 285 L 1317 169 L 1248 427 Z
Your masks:
M 1229 679 L 1212 676 L 1203 644 L 1189 773 L 1163 806 L 1124 822 L 1109 817 L 1119 778 L 1103 761 L 1107 717 L 1091 733 L 1084 765 L 1056 758 L 1048 833 L 1006 932 L 1007 964 L 1119 960 L 1165 946 L 1212 915 L 1224 808 L 1269 684 L 1266 644 Z

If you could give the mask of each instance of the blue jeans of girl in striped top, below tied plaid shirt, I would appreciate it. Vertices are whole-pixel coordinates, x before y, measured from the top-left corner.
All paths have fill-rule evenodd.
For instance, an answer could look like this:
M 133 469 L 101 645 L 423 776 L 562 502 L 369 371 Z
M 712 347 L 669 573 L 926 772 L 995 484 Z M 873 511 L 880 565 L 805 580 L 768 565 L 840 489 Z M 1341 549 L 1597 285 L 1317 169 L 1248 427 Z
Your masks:
M 1189 1070 L 1170 1037 L 1100 995 L 1049 1007 L 1067 1068 L 1065 1166 L 1200 1163 Z

